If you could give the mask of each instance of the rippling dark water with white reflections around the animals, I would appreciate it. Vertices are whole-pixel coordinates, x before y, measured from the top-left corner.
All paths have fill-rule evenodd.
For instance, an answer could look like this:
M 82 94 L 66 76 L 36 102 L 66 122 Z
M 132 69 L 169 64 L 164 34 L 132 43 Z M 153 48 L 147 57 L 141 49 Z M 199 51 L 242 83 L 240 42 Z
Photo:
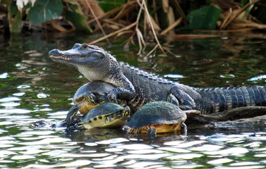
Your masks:
M 226 37 L 226 38 L 224 38 Z M 84 35 L 16 35 L 0 42 L 0 168 L 266 168 L 266 123 L 188 126 L 186 136 L 126 135 L 123 130 L 66 131 L 59 124 L 87 82 L 48 52 L 69 49 Z M 137 56 L 122 42 L 100 42 L 119 61 L 194 87 L 265 84 L 265 36 L 166 39 L 173 55 Z M 147 46 L 152 49 L 152 42 Z M 38 120 L 48 125 L 35 126 Z

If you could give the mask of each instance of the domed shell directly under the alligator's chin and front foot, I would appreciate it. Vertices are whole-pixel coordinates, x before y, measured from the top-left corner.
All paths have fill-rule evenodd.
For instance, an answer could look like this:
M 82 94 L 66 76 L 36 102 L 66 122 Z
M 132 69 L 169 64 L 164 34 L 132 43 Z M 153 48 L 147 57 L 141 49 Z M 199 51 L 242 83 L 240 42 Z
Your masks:
M 107 82 L 88 82 L 86 84 L 83 84 L 82 87 L 80 87 L 74 94 L 73 101 L 75 104 L 77 104 L 76 99 L 78 99 L 81 96 L 84 96 L 85 92 L 91 92 L 92 94 L 95 94 L 95 96 L 102 96 L 106 94 L 107 92 L 110 92 L 112 89 L 115 89 L 116 87 L 113 84 L 109 84 Z

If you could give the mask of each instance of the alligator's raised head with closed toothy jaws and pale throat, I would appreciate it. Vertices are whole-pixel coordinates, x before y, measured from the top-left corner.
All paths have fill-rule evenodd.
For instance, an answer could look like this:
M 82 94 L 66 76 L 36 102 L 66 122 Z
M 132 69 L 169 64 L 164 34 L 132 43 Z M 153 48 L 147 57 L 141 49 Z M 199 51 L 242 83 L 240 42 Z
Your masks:
M 75 66 L 90 81 L 104 81 L 116 62 L 116 58 L 109 52 L 87 44 L 75 44 L 67 51 L 53 49 L 49 51 L 49 56 L 53 61 Z

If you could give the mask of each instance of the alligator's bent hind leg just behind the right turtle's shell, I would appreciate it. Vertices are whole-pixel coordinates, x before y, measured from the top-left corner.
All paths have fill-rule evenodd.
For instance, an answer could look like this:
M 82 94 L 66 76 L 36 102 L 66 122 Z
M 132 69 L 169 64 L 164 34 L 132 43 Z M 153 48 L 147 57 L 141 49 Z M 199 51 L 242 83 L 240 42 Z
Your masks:
M 183 110 L 193 110 L 196 108 L 195 101 L 187 94 L 179 84 L 174 84 L 171 87 L 171 94 L 178 99 L 179 107 Z

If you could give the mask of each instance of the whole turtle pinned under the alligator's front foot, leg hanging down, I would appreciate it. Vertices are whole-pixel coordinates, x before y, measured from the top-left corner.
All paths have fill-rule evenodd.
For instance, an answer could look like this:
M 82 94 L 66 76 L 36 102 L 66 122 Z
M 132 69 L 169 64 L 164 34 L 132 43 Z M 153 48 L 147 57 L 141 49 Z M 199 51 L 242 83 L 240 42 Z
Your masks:
M 66 120 L 64 120 L 65 125 L 68 127 L 71 125 L 78 111 L 83 115 L 87 115 L 95 106 L 109 102 L 106 94 L 115 88 L 112 84 L 100 81 L 83 84 L 73 96 L 74 106 L 69 109 L 66 115 Z

